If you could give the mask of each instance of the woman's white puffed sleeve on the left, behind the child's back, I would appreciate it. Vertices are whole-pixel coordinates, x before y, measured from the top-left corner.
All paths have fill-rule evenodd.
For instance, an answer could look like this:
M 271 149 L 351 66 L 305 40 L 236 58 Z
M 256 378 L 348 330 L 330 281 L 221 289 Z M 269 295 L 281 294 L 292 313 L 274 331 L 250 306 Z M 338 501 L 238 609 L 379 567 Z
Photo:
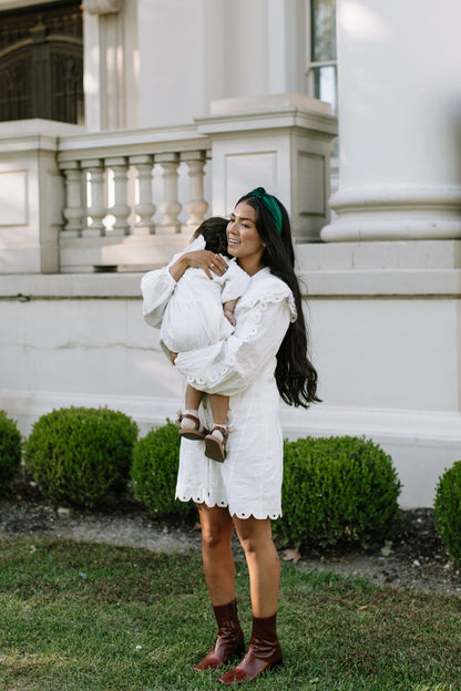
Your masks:
M 170 267 L 185 252 L 204 249 L 204 247 L 205 240 L 199 236 L 181 252 L 174 255 L 166 267 L 148 271 L 143 276 L 141 279 L 143 317 L 151 327 L 160 329 L 168 300 L 176 288 L 176 281 L 170 274 Z

